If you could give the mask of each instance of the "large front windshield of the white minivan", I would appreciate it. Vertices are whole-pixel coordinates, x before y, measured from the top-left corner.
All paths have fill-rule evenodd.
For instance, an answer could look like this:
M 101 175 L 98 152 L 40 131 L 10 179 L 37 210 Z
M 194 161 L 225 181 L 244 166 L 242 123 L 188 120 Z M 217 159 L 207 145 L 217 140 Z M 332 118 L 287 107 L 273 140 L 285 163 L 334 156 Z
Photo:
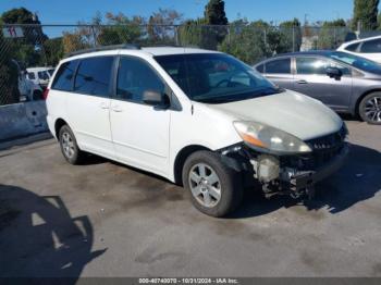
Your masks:
M 228 54 L 175 54 L 155 59 L 195 101 L 223 103 L 281 91 L 250 66 Z

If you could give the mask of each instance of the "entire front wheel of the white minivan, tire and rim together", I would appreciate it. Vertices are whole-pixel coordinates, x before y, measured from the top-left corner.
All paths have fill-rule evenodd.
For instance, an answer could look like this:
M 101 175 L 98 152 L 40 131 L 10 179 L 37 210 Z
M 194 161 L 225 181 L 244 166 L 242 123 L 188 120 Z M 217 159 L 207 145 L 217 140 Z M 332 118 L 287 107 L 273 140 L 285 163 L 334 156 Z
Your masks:
M 201 150 L 190 154 L 183 168 L 183 185 L 193 205 L 211 216 L 231 213 L 243 198 L 238 173 L 211 151 Z

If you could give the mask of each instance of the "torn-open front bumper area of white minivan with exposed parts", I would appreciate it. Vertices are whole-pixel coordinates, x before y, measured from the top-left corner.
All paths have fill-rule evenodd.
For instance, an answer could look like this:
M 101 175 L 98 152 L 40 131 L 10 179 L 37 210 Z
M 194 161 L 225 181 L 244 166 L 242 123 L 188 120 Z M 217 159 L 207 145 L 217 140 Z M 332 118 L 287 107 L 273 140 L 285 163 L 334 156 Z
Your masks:
M 339 142 L 325 144 L 324 147 L 316 145 L 308 154 L 260 153 L 245 144 L 221 150 L 221 154 L 231 168 L 247 174 L 246 182 L 250 178 L 256 184 L 259 182 L 267 197 L 279 194 L 294 198 L 305 195 L 311 197 L 315 184 L 344 164 L 349 151 L 344 139 L 345 136 Z

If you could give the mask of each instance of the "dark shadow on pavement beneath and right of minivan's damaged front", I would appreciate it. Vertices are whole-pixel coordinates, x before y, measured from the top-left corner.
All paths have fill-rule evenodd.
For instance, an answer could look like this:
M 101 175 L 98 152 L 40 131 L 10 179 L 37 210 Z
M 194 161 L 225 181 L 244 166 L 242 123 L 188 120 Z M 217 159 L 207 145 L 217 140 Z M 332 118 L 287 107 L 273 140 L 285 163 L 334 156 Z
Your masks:
M 357 202 L 372 198 L 381 191 L 381 153 L 358 145 L 351 145 L 345 165 L 331 177 L 316 186 L 316 197 L 304 205 L 307 210 L 327 208 L 339 213 Z M 297 203 L 286 196 L 267 200 L 255 191 L 246 191 L 242 207 L 230 219 L 251 218 L 276 211 Z

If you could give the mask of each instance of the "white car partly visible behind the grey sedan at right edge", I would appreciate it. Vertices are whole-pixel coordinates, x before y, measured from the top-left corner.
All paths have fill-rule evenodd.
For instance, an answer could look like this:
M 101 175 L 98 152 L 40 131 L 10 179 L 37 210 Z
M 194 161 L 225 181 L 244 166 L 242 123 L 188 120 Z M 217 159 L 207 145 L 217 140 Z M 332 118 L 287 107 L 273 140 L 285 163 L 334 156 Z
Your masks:
M 337 51 L 348 52 L 381 63 L 381 36 L 344 42 Z

